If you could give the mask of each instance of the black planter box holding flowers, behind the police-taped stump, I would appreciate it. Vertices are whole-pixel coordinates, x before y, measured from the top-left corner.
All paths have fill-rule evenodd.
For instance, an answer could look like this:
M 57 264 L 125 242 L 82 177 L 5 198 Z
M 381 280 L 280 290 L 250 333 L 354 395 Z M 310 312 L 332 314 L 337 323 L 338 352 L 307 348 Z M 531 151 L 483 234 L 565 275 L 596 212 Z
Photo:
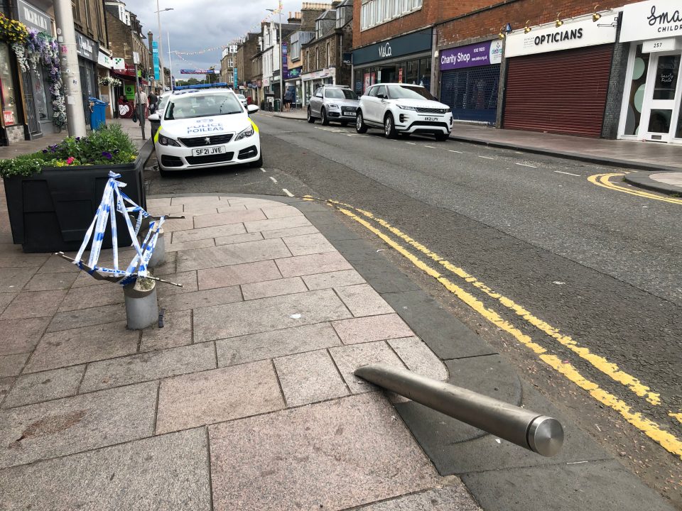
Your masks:
M 77 251 L 102 202 L 110 170 L 119 173 L 119 181 L 126 183 L 121 191 L 146 209 L 143 153 L 147 151 L 143 149 L 129 164 L 47 167 L 31 177 L 4 178 L 14 243 L 21 244 L 26 253 Z M 117 234 L 119 247 L 131 245 L 120 214 Z M 111 225 L 107 223 L 103 248 L 111 247 Z

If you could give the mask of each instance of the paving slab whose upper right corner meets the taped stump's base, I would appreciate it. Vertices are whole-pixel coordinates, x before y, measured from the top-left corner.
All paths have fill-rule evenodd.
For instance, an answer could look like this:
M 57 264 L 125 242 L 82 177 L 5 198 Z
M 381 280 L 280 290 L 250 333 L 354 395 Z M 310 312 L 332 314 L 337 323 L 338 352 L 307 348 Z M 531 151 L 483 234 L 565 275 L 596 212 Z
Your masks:
M 25 373 L 131 355 L 137 351 L 139 331 L 126 329 L 126 322 L 55 331 L 45 334 L 33 351 Z

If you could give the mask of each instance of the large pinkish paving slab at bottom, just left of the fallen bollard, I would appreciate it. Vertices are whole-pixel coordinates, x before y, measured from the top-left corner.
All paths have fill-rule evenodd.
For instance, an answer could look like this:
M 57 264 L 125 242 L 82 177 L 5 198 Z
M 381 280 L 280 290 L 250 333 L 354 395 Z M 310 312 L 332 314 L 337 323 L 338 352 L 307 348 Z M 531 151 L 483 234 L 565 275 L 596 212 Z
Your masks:
M 438 483 L 379 394 L 217 424 L 209 436 L 219 511 L 342 510 Z

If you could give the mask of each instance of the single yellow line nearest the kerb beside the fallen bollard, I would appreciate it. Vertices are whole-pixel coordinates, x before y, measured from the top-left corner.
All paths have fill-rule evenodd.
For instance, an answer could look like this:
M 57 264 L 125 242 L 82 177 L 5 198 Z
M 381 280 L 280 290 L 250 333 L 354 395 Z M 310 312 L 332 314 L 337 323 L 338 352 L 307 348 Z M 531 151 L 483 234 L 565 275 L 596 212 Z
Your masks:
M 499 314 L 497 314 L 497 312 L 495 312 L 493 309 L 485 307 L 485 304 L 483 304 L 483 302 L 481 302 L 476 297 L 472 296 L 470 293 L 463 290 L 458 285 L 455 285 L 447 277 L 438 273 L 437 270 L 431 268 L 431 266 L 424 263 L 416 255 L 408 251 L 406 248 L 401 246 L 399 243 L 394 241 L 386 234 L 379 231 L 379 229 L 372 226 L 372 224 L 369 224 L 368 221 L 360 218 L 359 216 L 352 213 L 352 211 L 349 211 L 348 209 L 345 208 L 338 209 L 346 216 L 349 216 L 351 219 L 357 221 L 366 229 L 372 231 L 372 233 L 379 236 L 381 240 L 386 242 L 389 246 L 391 246 L 391 248 L 394 248 L 396 251 L 401 253 L 401 255 L 404 255 L 404 257 L 410 260 L 411 263 L 413 263 L 413 265 L 415 265 L 417 268 L 438 280 L 438 282 L 440 282 L 440 284 L 443 285 L 445 289 L 452 292 L 460 300 L 462 300 L 462 302 L 465 302 L 465 304 L 467 304 L 469 307 L 471 307 L 476 312 L 481 314 L 489 322 L 514 336 L 514 338 L 521 342 L 521 344 L 524 344 L 532 351 L 534 351 L 539 356 L 541 361 L 548 364 L 548 366 L 551 366 L 551 368 L 558 371 L 559 373 L 563 374 L 566 378 L 568 378 L 568 380 L 572 381 L 583 390 L 589 392 L 590 395 L 595 398 L 595 400 L 601 402 L 603 405 L 610 407 L 612 410 L 615 410 L 616 412 L 621 414 L 621 416 L 625 420 L 627 420 L 627 422 L 629 422 L 634 427 L 642 431 L 644 434 L 646 434 L 646 436 L 649 436 L 650 439 L 656 441 L 664 449 L 666 449 L 666 451 L 669 451 L 672 454 L 675 454 L 676 456 L 682 458 L 682 441 L 677 439 L 676 436 L 669 432 L 666 432 L 666 430 L 662 429 L 658 424 L 656 424 L 656 422 L 653 422 L 650 419 L 646 419 L 646 417 L 643 417 L 641 413 L 632 412 L 632 409 L 627 405 L 627 403 L 625 403 L 622 400 L 619 400 L 617 397 L 615 397 L 615 395 L 612 395 L 610 392 L 601 389 L 599 385 L 583 377 L 583 375 L 581 375 L 572 364 L 564 363 L 557 356 L 547 353 L 547 350 L 533 342 L 530 336 L 524 334 L 519 329 L 516 329 L 515 326 L 502 319 L 502 317 L 499 316 Z

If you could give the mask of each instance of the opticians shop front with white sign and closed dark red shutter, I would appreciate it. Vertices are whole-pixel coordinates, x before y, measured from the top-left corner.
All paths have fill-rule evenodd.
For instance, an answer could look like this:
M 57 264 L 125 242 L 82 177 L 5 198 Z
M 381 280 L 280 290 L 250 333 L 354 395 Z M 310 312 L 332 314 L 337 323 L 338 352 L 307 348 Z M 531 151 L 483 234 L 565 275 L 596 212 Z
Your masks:
M 617 14 L 592 14 L 507 36 L 502 127 L 599 138 Z

